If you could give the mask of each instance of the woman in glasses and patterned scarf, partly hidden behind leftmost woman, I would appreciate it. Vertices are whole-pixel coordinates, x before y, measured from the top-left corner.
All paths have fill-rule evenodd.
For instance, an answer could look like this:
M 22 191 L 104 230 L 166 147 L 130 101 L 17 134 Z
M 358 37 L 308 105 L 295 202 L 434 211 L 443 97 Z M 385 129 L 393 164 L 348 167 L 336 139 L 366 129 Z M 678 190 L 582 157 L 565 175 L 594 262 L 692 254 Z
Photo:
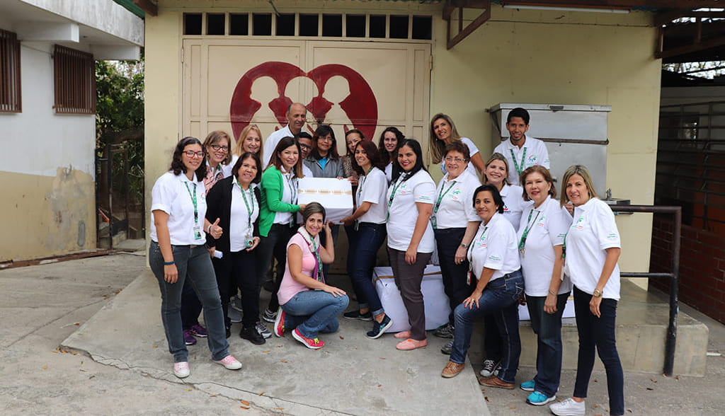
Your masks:
M 209 194 L 212 186 L 224 178 L 224 169 L 228 166 L 229 136 L 221 130 L 212 131 L 204 140 L 204 151 L 207 154 L 207 175 L 204 177 L 204 194 Z M 210 256 L 214 255 L 214 247 L 209 247 Z M 207 338 L 207 330 L 199 324 L 202 303 L 196 297 L 194 289 L 187 282 L 183 286 L 181 297 L 181 325 L 186 345 L 196 344 L 196 337 Z

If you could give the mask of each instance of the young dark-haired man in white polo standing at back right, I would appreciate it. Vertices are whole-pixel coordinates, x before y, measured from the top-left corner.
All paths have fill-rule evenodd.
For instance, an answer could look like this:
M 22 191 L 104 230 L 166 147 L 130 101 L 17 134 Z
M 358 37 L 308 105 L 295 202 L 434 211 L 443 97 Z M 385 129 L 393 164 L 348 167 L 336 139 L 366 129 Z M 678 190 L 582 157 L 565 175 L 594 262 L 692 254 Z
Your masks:
M 549 151 L 543 141 L 526 137 L 529 131 L 529 112 L 517 107 L 506 117 L 506 130 L 510 134 L 508 140 L 502 141 L 494 153 L 500 153 L 508 162 L 508 182 L 518 185 L 518 176 L 527 167 L 541 165 L 550 168 Z M 266 153 L 266 152 L 265 152 Z

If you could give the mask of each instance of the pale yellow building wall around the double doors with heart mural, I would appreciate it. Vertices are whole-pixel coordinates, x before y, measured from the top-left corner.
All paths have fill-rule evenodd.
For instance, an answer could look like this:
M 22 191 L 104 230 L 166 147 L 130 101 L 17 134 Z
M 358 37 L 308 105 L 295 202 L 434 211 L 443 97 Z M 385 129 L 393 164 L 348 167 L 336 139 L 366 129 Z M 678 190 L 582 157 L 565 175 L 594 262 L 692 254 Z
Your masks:
M 387 1 L 276 1 L 280 12 L 431 12 L 430 114 L 446 112 L 484 154 L 494 147 L 484 109 L 499 102 L 611 105 L 607 186 L 618 198 L 652 204 L 660 61 L 651 14 L 537 12 L 492 7 L 492 19 L 448 51 L 441 4 Z M 236 7 L 236 9 L 231 9 Z M 181 13 L 249 11 L 264 1 L 159 1 L 146 18 L 146 201 L 167 169 L 181 129 Z M 266 9 L 265 9 L 266 10 Z M 476 11 L 465 14 L 467 20 Z M 439 178 L 438 165 L 431 166 Z M 647 271 L 651 220 L 620 216 L 622 270 Z

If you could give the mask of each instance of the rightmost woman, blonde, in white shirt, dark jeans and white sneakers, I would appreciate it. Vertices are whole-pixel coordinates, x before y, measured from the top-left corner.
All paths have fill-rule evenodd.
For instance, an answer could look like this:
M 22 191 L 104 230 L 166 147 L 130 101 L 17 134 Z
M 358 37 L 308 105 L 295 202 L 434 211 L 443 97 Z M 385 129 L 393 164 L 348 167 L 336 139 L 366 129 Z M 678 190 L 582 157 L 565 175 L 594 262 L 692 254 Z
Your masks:
M 595 348 L 607 373 L 610 415 L 624 415 L 624 374 L 616 344 L 621 253 L 612 209 L 597 198 L 592 176 L 581 165 L 569 167 L 562 183 L 562 206 L 571 201 L 574 215 L 564 241 L 564 273 L 574 285 L 579 359 L 571 399 L 550 406 L 555 415 L 584 415 Z

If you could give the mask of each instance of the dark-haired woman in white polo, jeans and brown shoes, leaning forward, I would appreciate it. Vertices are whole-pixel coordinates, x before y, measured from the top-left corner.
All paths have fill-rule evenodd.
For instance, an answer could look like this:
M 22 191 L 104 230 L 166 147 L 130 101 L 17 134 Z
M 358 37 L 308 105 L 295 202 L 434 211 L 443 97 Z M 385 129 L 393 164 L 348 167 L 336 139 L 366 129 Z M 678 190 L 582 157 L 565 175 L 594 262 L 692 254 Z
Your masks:
M 495 186 L 481 185 L 476 188 L 473 205 L 481 217 L 479 230 L 468 249 L 471 283 L 476 288 L 453 312 L 453 348 L 441 375 L 451 378 L 463 370 L 465 355 L 471 344 L 473 322 L 482 316 L 492 315 L 505 345 L 501 356 L 501 369 L 498 375 L 481 378 L 479 383 L 489 387 L 513 388 L 518 358 L 521 355 L 518 298 L 523 292 L 516 232 L 501 215 L 503 201 Z

